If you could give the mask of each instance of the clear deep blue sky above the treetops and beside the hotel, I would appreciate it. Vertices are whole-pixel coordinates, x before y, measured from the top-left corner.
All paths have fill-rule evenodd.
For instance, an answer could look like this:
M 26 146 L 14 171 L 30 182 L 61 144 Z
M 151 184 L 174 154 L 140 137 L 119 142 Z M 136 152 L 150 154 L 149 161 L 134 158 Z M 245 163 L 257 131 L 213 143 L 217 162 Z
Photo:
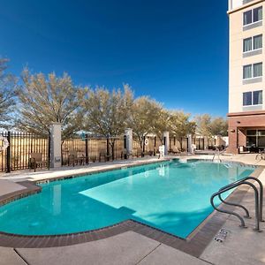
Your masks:
M 225 116 L 226 11 L 226 0 L 0 0 L 0 56 L 16 75 L 129 83 L 166 108 Z

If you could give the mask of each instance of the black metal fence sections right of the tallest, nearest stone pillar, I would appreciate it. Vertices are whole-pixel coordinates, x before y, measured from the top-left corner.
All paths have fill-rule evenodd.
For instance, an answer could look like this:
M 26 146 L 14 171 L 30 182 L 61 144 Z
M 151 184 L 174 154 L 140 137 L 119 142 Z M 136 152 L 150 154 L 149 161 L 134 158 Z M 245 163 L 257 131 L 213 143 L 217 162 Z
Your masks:
M 206 141 L 206 142 L 205 142 Z M 111 143 L 113 143 L 113 152 Z M 147 136 L 140 145 L 139 140 L 133 139 L 133 157 L 155 155 L 163 139 L 156 136 Z M 193 138 L 193 144 L 198 150 L 208 148 L 209 141 L 204 138 Z M 170 150 L 186 152 L 187 138 L 181 140 L 170 138 Z M 62 165 L 74 163 L 104 162 L 125 158 L 125 138 L 93 138 L 88 135 L 76 136 L 62 141 Z

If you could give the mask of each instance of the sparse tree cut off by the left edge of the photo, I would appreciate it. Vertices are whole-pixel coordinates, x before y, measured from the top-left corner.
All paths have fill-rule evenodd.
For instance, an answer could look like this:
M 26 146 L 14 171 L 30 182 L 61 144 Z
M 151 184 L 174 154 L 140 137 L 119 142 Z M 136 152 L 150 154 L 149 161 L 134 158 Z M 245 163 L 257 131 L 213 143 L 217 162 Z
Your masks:
M 0 58 L 0 126 L 4 128 L 11 124 L 17 87 L 17 79 L 5 72 L 8 61 L 6 58 Z

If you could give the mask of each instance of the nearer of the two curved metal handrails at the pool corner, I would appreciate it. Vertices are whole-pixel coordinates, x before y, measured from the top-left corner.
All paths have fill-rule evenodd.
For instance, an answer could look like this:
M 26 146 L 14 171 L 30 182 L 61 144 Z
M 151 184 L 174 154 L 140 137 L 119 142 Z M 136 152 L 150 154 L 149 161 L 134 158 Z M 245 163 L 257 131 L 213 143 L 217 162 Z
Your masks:
M 254 178 L 254 177 L 252 177 Z M 256 180 L 256 179 L 254 179 Z M 240 180 L 240 181 L 236 181 L 235 183 L 231 183 L 230 185 L 228 186 L 224 186 L 223 188 L 221 188 L 218 192 L 212 194 L 211 198 L 210 198 L 210 202 L 211 202 L 211 205 L 213 206 L 213 208 L 216 209 L 216 211 L 218 212 L 221 212 L 221 213 L 224 213 L 224 214 L 229 214 L 229 215 L 232 215 L 232 216 L 236 216 L 239 218 L 240 220 L 240 226 L 241 227 L 244 227 L 246 228 L 246 223 L 244 221 L 244 219 L 239 216 L 239 214 L 237 213 L 234 213 L 234 212 L 231 212 L 231 211 L 228 211 L 228 210 L 223 210 L 223 209 L 220 209 L 220 208 L 216 208 L 216 205 L 214 203 L 214 199 L 217 195 L 219 194 L 222 194 L 222 193 L 225 193 L 237 186 L 240 186 L 240 185 L 248 185 L 248 186 L 251 186 L 253 189 L 254 189 L 254 198 L 255 198 L 255 221 L 256 221 L 256 224 L 255 224 L 255 231 L 260 231 L 260 208 L 259 208 L 259 192 L 256 188 L 256 186 L 254 186 L 254 184 L 250 183 L 250 182 L 247 182 L 246 180 Z

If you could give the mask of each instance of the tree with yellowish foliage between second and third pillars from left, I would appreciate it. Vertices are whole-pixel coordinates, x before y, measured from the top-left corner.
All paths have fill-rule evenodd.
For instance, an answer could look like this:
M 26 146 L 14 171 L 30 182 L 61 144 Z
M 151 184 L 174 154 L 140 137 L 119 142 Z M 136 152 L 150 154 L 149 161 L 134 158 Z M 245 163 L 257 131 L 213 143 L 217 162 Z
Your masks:
M 161 110 L 161 104 L 148 98 L 148 96 L 141 96 L 133 102 L 129 126 L 133 129 L 133 134 L 140 143 L 140 148 L 143 148 L 143 141 L 148 133 L 155 133 L 156 119 Z

